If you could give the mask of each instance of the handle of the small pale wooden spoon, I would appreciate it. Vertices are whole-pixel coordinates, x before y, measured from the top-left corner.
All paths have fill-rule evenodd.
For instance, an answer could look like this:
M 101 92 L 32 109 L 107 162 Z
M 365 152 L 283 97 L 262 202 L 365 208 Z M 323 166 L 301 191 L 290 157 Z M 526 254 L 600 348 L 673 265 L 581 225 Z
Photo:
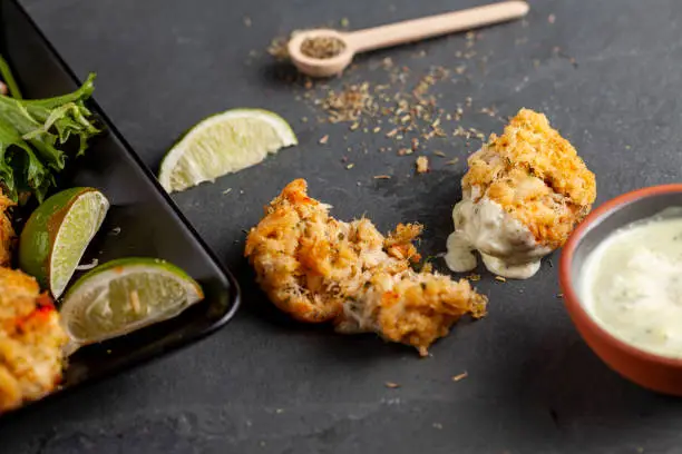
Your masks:
M 525 1 L 503 1 L 461 11 L 358 30 L 345 34 L 355 52 L 381 49 L 455 31 L 518 19 L 528 12 Z

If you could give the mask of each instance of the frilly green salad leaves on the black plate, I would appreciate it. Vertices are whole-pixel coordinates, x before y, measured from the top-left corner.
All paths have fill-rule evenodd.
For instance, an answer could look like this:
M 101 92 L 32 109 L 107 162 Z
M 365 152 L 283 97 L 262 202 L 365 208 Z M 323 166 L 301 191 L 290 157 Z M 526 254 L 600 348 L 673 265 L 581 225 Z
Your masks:
M 20 99 L 4 60 L 0 76 L 13 96 L 0 95 L 0 187 L 13 200 L 32 193 L 42 201 L 56 185 L 55 175 L 65 168 L 66 142 L 77 139 L 80 155 L 88 139 L 99 132 L 85 105 L 95 90 L 95 73 L 71 93 L 36 100 Z

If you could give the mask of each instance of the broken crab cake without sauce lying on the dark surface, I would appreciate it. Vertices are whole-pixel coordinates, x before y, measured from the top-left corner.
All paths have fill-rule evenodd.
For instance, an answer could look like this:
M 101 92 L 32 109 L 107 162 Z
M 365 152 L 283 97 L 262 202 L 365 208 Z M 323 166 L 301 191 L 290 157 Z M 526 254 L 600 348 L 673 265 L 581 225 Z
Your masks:
M 384 237 L 369 219 L 329 216 L 306 189 L 302 179 L 289 184 L 246 240 L 257 282 L 281 310 L 333 322 L 341 333 L 373 332 L 421 355 L 461 316 L 485 315 L 486 297 L 467 280 L 412 269 L 421 226 L 401 224 Z

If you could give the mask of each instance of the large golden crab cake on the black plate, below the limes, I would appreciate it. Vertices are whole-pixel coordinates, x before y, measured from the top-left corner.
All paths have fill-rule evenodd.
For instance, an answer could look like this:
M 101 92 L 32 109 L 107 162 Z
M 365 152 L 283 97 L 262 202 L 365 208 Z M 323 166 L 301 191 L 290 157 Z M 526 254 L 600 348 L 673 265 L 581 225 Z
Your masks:
M 0 413 L 57 387 L 67 340 L 59 314 L 36 279 L 0 268 Z

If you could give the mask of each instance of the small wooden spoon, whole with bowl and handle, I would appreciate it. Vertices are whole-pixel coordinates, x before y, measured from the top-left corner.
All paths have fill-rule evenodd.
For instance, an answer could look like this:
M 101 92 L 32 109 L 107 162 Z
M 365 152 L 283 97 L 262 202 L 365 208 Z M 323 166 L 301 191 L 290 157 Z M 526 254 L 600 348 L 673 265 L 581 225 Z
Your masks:
M 342 72 L 355 53 L 518 19 L 526 16 L 528 9 L 525 1 L 503 1 L 351 32 L 306 30 L 289 41 L 289 56 L 299 71 L 311 77 L 331 77 Z M 343 49 L 331 58 L 309 57 L 301 51 L 301 45 L 315 38 L 340 40 Z

